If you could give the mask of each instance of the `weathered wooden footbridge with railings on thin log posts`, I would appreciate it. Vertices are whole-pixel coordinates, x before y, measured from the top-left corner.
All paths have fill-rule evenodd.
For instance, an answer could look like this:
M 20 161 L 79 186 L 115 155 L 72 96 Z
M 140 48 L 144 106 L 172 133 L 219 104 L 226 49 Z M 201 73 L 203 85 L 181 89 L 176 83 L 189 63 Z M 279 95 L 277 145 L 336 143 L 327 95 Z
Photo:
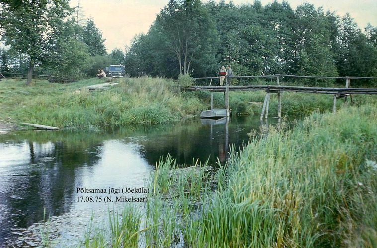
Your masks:
M 326 87 L 302 87 L 302 86 L 285 86 L 280 85 L 279 77 L 299 77 L 299 78 L 327 78 L 327 79 L 345 79 L 344 88 L 326 88 Z M 295 76 L 295 75 L 271 75 L 271 76 L 235 76 L 233 78 L 257 78 L 257 77 L 269 77 L 276 78 L 277 85 L 246 85 L 246 86 L 211 86 L 213 79 L 219 79 L 218 77 L 201 77 L 194 79 L 211 79 L 209 86 L 191 86 L 184 88 L 184 90 L 205 90 L 211 92 L 211 109 L 213 109 L 213 92 L 224 92 L 224 100 L 226 105 L 226 116 L 230 115 L 229 111 L 229 91 L 255 91 L 262 90 L 266 92 L 266 97 L 264 98 L 262 113 L 260 119 L 268 117 L 268 108 L 270 94 L 276 93 L 278 96 L 278 117 L 281 117 L 281 93 L 284 91 L 291 92 L 304 92 L 304 93 L 315 93 L 315 94 L 331 94 L 333 95 L 333 112 L 336 112 L 336 99 L 341 97 L 351 97 L 352 94 L 367 94 L 376 95 L 377 88 L 350 88 L 350 79 L 377 79 L 376 77 L 322 77 L 322 76 Z

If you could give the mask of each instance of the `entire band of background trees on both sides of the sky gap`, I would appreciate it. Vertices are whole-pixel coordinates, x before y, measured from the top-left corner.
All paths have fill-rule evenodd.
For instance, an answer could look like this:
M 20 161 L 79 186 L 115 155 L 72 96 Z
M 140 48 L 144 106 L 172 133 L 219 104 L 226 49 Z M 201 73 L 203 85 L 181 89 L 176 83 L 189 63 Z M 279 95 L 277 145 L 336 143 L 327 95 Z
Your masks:
M 349 14 L 313 4 L 169 0 L 146 34 L 110 54 L 93 20 L 80 16 L 69 0 L 0 0 L 1 36 L 10 47 L 0 51 L 0 69 L 84 77 L 116 63 L 131 76 L 176 78 L 217 76 L 231 64 L 241 76 L 377 77 L 377 28 L 361 30 Z

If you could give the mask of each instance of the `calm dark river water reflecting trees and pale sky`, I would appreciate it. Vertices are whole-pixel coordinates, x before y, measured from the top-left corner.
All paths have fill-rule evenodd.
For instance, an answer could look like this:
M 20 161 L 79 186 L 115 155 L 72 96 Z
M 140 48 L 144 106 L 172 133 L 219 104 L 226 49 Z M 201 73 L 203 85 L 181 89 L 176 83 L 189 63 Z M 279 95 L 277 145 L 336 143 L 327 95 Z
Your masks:
M 0 247 L 37 246 L 42 233 L 37 223 L 48 217 L 55 223 L 49 227 L 55 232 L 50 238 L 59 237 L 55 244 L 61 244 L 59 239 L 65 240 L 63 244 L 75 240 L 77 247 L 91 214 L 110 209 L 113 203 L 105 199 L 114 199 L 117 189 L 149 190 L 146 181 L 162 156 L 170 154 L 180 165 L 208 160 L 216 168 L 217 161 L 225 162 L 229 146 L 247 143 L 247 134 L 260 126 L 259 117 L 235 117 L 229 122 L 193 119 L 105 131 L 1 135 Z M 91 194 L 82 188 L 106 193 Z M 64 225 L 69 228 L 59 227 Z

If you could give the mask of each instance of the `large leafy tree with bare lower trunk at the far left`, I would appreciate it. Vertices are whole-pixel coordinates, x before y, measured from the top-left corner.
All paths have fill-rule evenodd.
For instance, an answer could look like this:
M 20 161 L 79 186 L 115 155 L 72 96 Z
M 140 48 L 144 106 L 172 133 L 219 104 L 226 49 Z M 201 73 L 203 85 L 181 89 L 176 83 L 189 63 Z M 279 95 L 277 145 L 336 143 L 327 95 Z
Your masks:
M 3 0 L 0 27 L 5 44 L 29 58 L 26 85 L 34 66 L 54 58 L 64 19 L 71 14 L 68 0 Z

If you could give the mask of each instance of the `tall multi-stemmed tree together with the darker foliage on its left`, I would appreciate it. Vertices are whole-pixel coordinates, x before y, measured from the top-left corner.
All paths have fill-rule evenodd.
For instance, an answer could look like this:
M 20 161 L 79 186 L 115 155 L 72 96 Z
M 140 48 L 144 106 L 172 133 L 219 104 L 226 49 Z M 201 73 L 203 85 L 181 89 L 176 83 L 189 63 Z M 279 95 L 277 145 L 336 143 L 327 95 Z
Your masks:
M 131 75 L 168 76 L 216 71 L 215 23 L 199 0 L 170 0 L 146 35 L 126 53 Z

